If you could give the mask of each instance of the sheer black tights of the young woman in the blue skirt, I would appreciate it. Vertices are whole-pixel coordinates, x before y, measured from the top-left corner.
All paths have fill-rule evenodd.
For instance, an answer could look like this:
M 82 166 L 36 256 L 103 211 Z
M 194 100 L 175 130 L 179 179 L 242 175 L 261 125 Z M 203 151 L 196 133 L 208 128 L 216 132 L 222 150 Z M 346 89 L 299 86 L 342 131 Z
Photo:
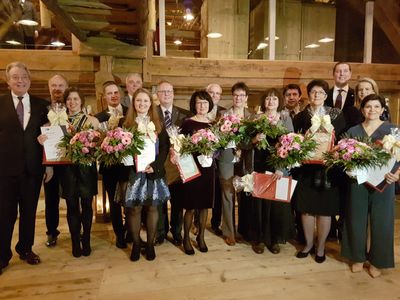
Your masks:
M 142 224 L 142 207 L 134 206 L 129 208 L 129 222 L 132 231 L 132 239 L 135 245 L 140 245 L 140 227 Z M 157 222 L 158 222 L 158 210 L 157 206 L 146 206 L 146 232 L 147 232 L 147 246 L 152 246 L 156 235 Z

